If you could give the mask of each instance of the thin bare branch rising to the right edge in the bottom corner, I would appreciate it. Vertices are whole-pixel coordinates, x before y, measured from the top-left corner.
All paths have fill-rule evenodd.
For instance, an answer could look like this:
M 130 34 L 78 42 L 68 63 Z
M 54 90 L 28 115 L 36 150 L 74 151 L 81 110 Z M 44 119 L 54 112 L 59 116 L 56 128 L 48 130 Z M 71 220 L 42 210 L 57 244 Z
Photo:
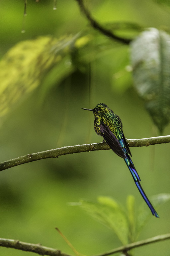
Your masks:
M 152 243 L 159 242 L 159 241 L 164 241 L 164 240 L 167 240 L 167 239 L 170 239 L 170 233 L 169 234 L 164 234 L 164 235 L 159 235 L 159 236 L 154 236 L 152 238 L 148 238 L 148 239 L 145 239 L 145 240 L 142 240 L 142 241 L 127 244 L 125 246 L 121 246 L 121 247 L 116 248 L 114 250 L 105 252 L 103 254 L 98 254 L 98 255 L 95 255 L 95 256 L 107 256 L 107 255 L 115 254 L 115 253 L 118 253 L 118 252 L 124 252 L 125 253 L 125 252 L 127 252 L 131 249 L 134 249 L 134 248 L 137 248 L 137 247 L 140 247 L 140 246 L 143 246 L 143 245 L 147 245 L 147 244 L 152 244 Z

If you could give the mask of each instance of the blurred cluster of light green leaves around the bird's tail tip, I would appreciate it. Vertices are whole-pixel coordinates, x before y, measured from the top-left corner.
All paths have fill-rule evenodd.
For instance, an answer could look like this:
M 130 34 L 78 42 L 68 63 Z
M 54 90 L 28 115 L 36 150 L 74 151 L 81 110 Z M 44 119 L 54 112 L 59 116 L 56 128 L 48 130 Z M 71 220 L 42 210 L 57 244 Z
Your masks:
M 160 207 L 169 200 L 170 194 L 160 194 L 153 197 L 156 207 Z M 127 197 L 127 209 L 110 197 L 99 197 L 97 203 L 81 200 L 77 205 L 95 220 L 113 229 L 119 240 L 126 245 L 136 241 L 141 228 L 152 217 L 143 203 L 139 208 L 140 210 L 135 213 L 134 201 L 133 196 Z

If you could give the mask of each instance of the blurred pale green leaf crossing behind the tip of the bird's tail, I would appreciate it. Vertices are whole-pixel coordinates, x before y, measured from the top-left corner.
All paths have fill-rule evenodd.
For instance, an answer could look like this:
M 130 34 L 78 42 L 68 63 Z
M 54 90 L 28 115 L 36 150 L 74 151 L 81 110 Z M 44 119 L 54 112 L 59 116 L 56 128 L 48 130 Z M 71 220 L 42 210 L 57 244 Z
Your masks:
M 154 206 L 154 208 L 158 209 L 160 206 L 162 206 L 164 203 L 170 200 L 170 194 L 162 193 L 151 197 L 151 202 Z M 151 212 L 148 210 L 148 206 L 145 202 L 143 202 L 138 210 L 137 215 L 137 223 L 136 223 L 136 230 L 137 235 L 140 232 L 140 230 L 143 228 L 143 226 L 146 224 L 148 219 L 153 218 Z M 160 216 L 161 217 L 161 216 Z

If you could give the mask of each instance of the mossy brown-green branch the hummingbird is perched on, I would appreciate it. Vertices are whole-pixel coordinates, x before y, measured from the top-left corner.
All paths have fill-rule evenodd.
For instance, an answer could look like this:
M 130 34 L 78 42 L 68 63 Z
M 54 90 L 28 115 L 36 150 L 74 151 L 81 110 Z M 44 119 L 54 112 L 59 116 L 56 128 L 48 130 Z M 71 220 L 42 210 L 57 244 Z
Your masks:
M 161 143 L 168 143 L 170 142 L 170 135 L 145 138 L 145 139 L 133 139 L 133 140 L 127 139 L 127 142 L 129 144 L 129 147 L 142 147 L 142 146 L 149 146 L 149 145 L 155 145 L 155 144 L 161 144 Z M 25 164 L 25 163 L 45 159 L 45 158 L 56 158 L 62 155 L 68 155 L 73 153 L 81 153 L 81 152 L 96 151 L 96 150 L 109 150 L 109 149 L 111 148 L 106 142 L 50 149 L 50 150 L 46 150 L 38 153 L 20 156 L 20 157 L 2 162 L 0 163 L 0 171 L 6 170 L 8 168 L 11 168 L 17 165 L 21 165 L 21 164 Z

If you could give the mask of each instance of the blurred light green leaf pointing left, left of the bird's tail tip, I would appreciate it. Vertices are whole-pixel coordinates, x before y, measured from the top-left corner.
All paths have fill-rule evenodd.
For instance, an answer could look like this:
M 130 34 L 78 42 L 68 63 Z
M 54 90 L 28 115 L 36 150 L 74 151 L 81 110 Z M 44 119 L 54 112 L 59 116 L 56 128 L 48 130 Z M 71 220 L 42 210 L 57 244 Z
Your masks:
M 99 197 L 98 202 L 81 200 L 80 207 L 95 220 L 114 230 L 123 244 L 128 243 L 128 218 L 122 207 L 110 197 Z

